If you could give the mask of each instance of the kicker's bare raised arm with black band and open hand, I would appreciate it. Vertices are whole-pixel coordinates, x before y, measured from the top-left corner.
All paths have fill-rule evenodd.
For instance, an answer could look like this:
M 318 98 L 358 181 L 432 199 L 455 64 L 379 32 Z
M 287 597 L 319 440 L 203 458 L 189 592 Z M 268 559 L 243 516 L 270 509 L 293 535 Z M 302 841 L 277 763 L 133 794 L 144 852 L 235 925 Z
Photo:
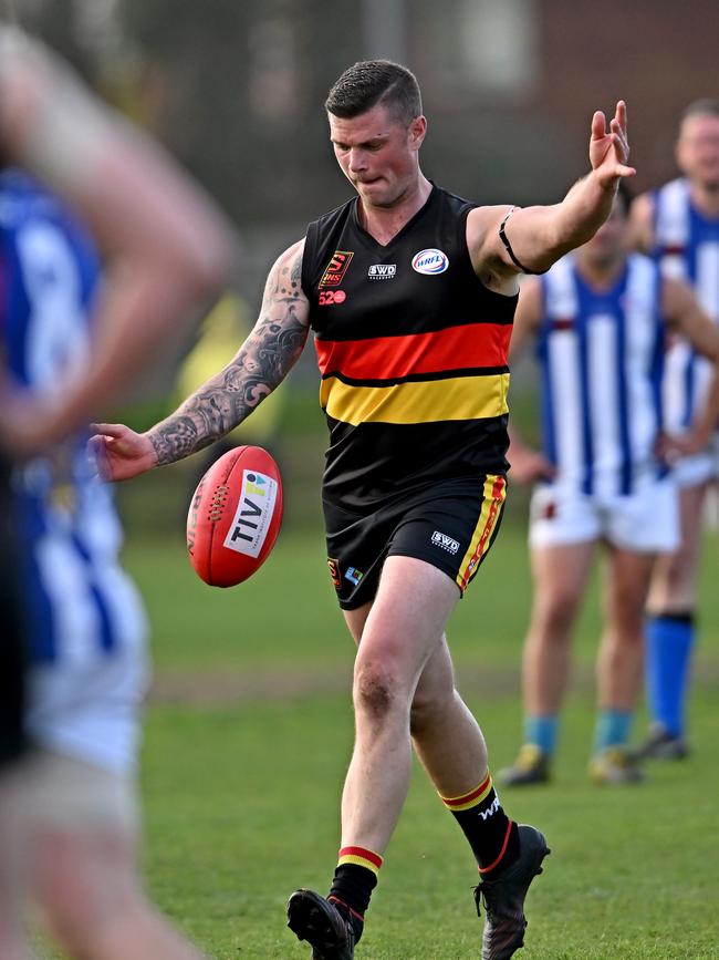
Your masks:
M 627 166 L 626 104 L 619 101 L 606 128 L 601 111 L 592 118 L 591 172 L 553 206 L 511 209 L 479 207 L 470 214 L 468 242 L 475 269 L 501 288 L 502 280 L 522 272 L 543 272 L 564 254 L 591 239 L 609 216 L 618 182 L 634 176 Z M 500 227 L 508 213 L 500 236 Z

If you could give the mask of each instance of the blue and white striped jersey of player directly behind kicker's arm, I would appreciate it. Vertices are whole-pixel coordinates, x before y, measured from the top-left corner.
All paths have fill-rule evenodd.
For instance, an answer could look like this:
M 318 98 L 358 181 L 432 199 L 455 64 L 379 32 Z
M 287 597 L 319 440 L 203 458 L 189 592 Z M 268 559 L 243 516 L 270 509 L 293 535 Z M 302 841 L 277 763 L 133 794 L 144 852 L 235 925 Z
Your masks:
M 643 477 L 660 473 L 659 270 L 633 255 L 613 288 L 600 292 L 569 256 L 541 283 L 542 437 L 558 468 L 554 483 L 587 495 L 633 493 Z

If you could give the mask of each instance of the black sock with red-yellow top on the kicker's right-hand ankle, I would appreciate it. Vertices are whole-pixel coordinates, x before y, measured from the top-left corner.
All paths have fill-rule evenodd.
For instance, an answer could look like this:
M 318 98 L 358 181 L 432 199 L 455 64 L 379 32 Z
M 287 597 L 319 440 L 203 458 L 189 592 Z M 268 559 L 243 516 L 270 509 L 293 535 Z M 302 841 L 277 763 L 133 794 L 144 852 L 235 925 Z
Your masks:
M 517 824 L 504 813 L 489 772 L 469 793 L 440 794 L 440 798 L 462 828 L 483 877 L 514 863 L 519 856 Z

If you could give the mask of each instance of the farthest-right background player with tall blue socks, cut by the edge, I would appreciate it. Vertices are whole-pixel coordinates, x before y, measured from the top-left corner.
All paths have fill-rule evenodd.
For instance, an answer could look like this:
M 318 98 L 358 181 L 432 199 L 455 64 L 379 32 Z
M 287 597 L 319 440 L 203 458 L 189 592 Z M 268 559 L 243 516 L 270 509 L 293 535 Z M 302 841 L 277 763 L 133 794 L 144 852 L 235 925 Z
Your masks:
M 676 144 L 681 176 L 637 197 L 632 219 L 637 247 L 681 277 L 719 322 L 719 101 L 698 100 L 685 110 Z M 681 433 L 706 396 L 709 370 L 691 344 L 677 338 L 664 382 L 666 429 Z M 639 755 L 686 755 L 686 696 L 696 640 L 697 577 L 704 506 L 719 481 L 719 433 L 677 465 L 681 540 L 659 557 L 647 603 L 647 690 L 652 727 Z

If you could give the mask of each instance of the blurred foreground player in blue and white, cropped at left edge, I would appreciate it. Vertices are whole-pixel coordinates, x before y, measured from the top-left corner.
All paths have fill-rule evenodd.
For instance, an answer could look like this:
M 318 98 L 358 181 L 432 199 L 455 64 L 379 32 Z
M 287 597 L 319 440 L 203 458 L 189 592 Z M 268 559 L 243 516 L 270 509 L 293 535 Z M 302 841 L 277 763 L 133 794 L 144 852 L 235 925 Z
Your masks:
M 0 442 L 19 545 L 3 567 L 21 575 L 32 743 L 0 788 L 0 956 L 27 956 L 32 899 L 79 960 L 191 960 L 138 876 L 145 615 L 83 424 L 186 331 L 226 279 L 231 236 L 168 157 L 2 27 L 0 136 Z

